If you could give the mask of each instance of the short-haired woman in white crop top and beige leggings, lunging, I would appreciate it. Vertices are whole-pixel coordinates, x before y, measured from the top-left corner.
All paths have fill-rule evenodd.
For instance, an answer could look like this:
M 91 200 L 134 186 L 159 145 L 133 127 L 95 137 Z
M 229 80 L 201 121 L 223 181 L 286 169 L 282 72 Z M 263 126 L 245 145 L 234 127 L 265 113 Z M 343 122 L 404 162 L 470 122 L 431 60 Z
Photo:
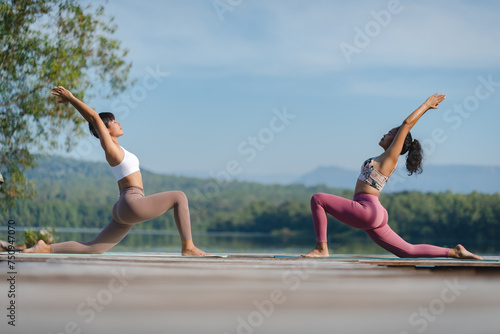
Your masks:
M 156 218 L 174 209 L 175 224 L 182 241 L 182 255 L 207 255 L 193 243 L 188 200 L 183 192 L 167 191 L 144 196 L 139 160 L 118 144 L 118 137 L 124 133 L 114 115 L 97 114 L 64 87 L 52 88 L 52 94 L 60 98 L 58 103 L 71 103 L 89 122 L 90 131 L 101 141 L 106 160 L 118 182 L 120 199 L 113 207 L 111 221 L 94 240 L 90 242 L 68 241 L 53 245 L 47 245 L 40 240 L 24 252 L 100 254 L 120 242 L 135 224 Z

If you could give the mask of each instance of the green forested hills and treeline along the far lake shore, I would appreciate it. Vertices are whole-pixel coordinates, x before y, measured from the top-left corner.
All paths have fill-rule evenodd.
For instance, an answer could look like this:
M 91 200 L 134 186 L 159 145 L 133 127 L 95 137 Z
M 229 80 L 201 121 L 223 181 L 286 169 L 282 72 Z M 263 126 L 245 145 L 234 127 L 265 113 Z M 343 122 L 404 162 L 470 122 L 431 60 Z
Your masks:
M 102 228 L 110 220 L 119 193 L 105 163 L 43 157 L 27 175 L 34 183 L 36 197 L 18 200 L 7 212 L 0 212 L 1 221 L 15 219 L 19 227 Z M 311 196 L 317 192 L 346 198 L 353 195 L 352 190 L 327 186 L 263 185 L 158 175 L 144 170 L 143 180 L 146 195 L 184 191 L 190 201 L 194 231 L 304 233 L 313 238 Z M 380 201 L 389 212 L 391 227 L 414 243 L 436 237 L 491 243 L 500 236 L 499 193 L 382 193 Z M 348 238 L 360 234 L 329 219 L 330 236 Z M 134 228 L 176 229 L 172 212 Z

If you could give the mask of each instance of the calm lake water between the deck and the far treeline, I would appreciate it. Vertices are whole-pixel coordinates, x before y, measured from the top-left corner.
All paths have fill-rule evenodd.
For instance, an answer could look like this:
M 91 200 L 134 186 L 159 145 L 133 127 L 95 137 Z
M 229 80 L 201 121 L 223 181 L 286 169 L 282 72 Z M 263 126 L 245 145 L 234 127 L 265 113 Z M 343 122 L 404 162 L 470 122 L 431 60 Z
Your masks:
M 59 228 L 55 235 L 58 242 L 78 240 L 90 241 L 99 229 Z M 7 228 L 0 228 L 0 240 L 7 240 Z M 16 240 L 24 241 L 24 228 L 16 230 Z M 193 232 L 193 240 L 200 249 L 209 253 L 271 253 L 298 254 L 308 252 L 315 246 L 314 235 L 269 235 L 259 233 L 231 232 Z M 467 249 L 481 255 L 500 254 L 500 242 L 492 239 L 487 243 L 473 243 L 467 240 L 414 240 L 444 247 L 454 247 L 457 242 Z M 333 238 L 329 241 L 330 250 L 336 254 L 388 254 L 365 235 L 356 238 Z M 181 242 L 177 231 L 140 231 L 132 230 L 111 251 L 120 252 L 168 252 L 179 253 Z

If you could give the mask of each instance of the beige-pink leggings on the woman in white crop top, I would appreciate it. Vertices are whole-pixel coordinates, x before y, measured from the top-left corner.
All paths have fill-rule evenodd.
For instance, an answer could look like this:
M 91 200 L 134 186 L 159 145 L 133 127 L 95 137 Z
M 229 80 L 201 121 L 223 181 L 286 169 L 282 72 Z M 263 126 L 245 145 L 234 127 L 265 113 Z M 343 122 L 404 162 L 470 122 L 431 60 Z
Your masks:
M 161 216 L 172 208 L 181 240 L 191 239 L 188 200 L 183 192 L 167 191 L 144 196 L 142 188 L 129 187 L 120 192 L 120 199 L 113 207 L 111 221 L 94 240 L 53 244 L 52 253 L 104 253 L 119 243 L 135 224 Z

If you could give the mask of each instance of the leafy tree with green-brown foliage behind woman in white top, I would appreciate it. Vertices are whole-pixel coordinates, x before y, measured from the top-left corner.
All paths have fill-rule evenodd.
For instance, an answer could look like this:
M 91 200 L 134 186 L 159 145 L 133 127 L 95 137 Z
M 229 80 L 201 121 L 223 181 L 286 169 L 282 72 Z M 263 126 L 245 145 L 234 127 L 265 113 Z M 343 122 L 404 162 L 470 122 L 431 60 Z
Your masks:
M 116 25 L 104 7 L 78 0 L 0 2 L 0 207 L 34 195 L 24 172 L 34 152 L 71 150 L 84 119 L 55 104 L 50 88 L 64 85 L 86 100 L 124 91 L 131 63 L 112 38 Z M 94 88 L 94 90 L 93 90 Z M 97 89 L 98 88 L 98 89 Z M 92 93 L 94 91 L 94 93 Z M 64 143 L 61 143 L 64 138 Z

